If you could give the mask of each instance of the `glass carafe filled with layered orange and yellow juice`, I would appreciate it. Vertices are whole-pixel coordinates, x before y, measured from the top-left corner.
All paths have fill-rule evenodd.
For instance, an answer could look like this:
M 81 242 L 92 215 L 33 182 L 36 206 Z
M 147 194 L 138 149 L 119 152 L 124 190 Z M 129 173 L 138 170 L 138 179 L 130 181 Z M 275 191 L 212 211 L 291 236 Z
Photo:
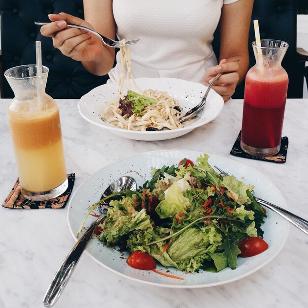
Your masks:
M 4 72 L 14 99 L 7 115 L 23 195 L 35 201 L 61 195 L 68 186 L 59 108 L 45 93 L 48 68 L 22 65 Z

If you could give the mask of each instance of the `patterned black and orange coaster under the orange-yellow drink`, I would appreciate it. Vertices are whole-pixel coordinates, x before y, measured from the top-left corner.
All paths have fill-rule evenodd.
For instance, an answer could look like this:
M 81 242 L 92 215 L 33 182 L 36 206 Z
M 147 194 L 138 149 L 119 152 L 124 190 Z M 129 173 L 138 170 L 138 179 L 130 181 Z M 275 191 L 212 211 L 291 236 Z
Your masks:
M 14 187 L 12 188 L 9 195 L 4 200 L 2 207 L 9 209 L 61 209 L 64 208 L 68 198 L 72 192 L 75 173 L 67 175 L 68 187 L 67 189 L 57 198 L 53 198 L 46 201 L 32 201 L 26 199 L 20 189 L 19 179 L 17 179 Z

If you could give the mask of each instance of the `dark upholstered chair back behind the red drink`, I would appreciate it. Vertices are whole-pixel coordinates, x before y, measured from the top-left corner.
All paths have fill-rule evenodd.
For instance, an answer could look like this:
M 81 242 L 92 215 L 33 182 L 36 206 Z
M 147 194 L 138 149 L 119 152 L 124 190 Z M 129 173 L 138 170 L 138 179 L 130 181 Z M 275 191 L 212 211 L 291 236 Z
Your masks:
M 287 97 L 302 98 L 305 61 L 300 59 L 296 52 L 297 0 L 254 0 L 248 41 L 250 67 L 255 64 L 251 46 L 251 43 L 255 41 L 254 19 L 259 21 L 261 39 L 278 39 L 289 43 L 282 61 L 282 66 L 289 76 Z M 218 30 L 215 33 L 213 47 L 218 55 Z M 244 82 L 232 97 L 244 97 Z

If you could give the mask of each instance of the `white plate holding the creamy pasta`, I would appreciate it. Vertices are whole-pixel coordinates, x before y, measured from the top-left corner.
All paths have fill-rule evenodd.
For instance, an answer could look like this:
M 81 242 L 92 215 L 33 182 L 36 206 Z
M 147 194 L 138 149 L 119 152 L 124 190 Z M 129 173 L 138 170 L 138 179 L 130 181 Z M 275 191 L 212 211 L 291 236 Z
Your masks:
M 207 87 L 200 83 L 176 78 L 137 78 L 136 84 L 143 90 L 152 89 L 167 92 L 171 97 L 179 101 L 185 111 L 198 105 L 207 90 Z M 137 91 L 132 83 L 128 88 L 132 91 Z M 124 83 L 123 93 L 126 92 L 127 84 Z M 134 131 L 116 127 L 102 120 L 101 115 L 107 106 L 112 102 L 119 102 L 119 98 L 119 84 L 107 83 L 82 96 L 78 102 L 78 110 L 85 120 L 107 129 L 115 135 L 134 140 L 154 141 L 185 135 L 193 129 L 213 121 L 224 106 L 222 97 L 211 89 L 203 110 L 194 120 L 184 123 L 184 127 L 162 131 Z

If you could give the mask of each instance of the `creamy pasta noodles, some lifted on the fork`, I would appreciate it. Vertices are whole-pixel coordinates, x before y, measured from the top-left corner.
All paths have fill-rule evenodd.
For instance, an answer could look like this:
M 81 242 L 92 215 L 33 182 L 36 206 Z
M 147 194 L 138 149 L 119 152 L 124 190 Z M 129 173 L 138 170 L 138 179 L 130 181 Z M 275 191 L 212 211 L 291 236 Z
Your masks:
M 125 40 L 122 40 L 121 43 L 124 44 Z M 141 90 L 136 84 L 131 72 L 129 47 L 120 47 L 120 51 L 122 63 L 122 74 L 119 81 L 120 102 L 111 103 L 104 111 L 102 119 L 106 123 L 128 130 L 150 130 L 151 128 L 153 130 L 163 130 L 183 127 L 179 122 L 179 119 L 182 116 L 182 108 L 180 107 L 179 102 L 168 95 L 167 92 Z M 123 108 L 119 108 L 121 102 L 125 103 L 126 98 L 122 93 L 125 67 L 127 71 L 127 89 L 130 89 L 129 80 L 131 80 L 137 91 L 142 95 L 157 101 L 157 103 L 144 107 L 140 114 L 126 113 L 123 111 Z

